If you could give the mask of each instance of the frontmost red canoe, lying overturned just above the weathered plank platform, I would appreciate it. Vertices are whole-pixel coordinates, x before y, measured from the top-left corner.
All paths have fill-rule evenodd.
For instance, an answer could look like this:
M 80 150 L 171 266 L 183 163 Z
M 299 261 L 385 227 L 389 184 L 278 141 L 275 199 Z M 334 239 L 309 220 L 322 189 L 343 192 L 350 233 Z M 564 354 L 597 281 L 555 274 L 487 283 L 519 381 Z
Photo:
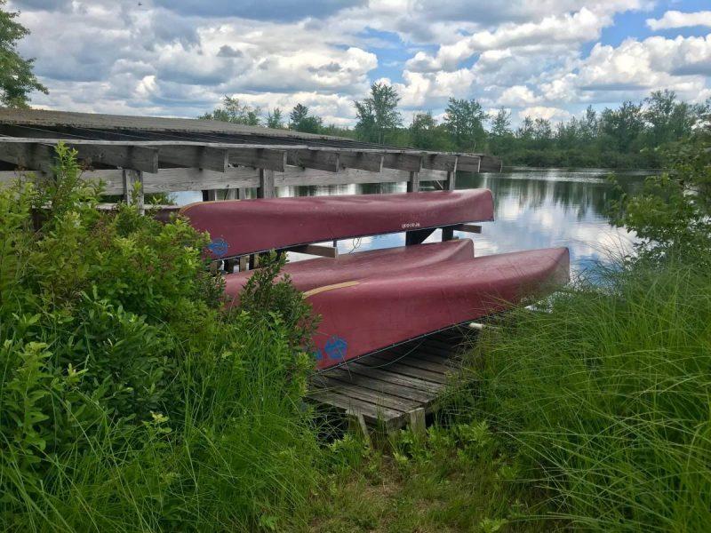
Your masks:
M 568 281 L 567 248 L 443 261 L 308 290 L 320 370 L 504 311 Z

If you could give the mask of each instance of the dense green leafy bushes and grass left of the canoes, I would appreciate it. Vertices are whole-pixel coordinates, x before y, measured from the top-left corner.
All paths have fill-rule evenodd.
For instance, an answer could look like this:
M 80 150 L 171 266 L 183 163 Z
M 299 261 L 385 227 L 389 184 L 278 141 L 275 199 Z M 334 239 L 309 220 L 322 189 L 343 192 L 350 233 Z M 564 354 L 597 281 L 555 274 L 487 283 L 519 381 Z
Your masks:
M 57 159 L 0 192 L 0 521 L 276 527 L 314 483 L 308 307 L 277 268 L 268 311 L 225 312 L 206 235 L 96 210 L 100 187 Z

